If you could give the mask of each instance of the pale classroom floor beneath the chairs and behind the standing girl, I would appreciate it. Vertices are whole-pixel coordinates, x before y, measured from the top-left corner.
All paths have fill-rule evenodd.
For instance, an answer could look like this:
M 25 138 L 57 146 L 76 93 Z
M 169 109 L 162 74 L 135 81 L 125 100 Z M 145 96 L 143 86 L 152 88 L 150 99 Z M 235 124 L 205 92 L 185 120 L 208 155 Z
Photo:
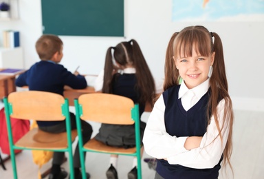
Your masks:
M 233 154 L 232 167 L 234 169 L 234 179 L 261 179 L 264 171 L 264 112 L 235 111 L 235 122 L 233 129 Z M 143 114 L 142 120 L 147 120 L 148 113 Z M 94 134 L 99 126 L 94 127 Z M 93 134 L 93 135 L 94 135 Z M 148 157 L 143 154 L 142 158 Z M 32 161 L 31 151 L 23 151 L 16 157 L 19 178 L 36 179 L 38 167 Z M 13 178 L 12 165 L 10 160 L 5 162 L 7 170 L 0 167 L 0 178 Z M 50 162 L 41 168 L 45 171 L 50 167 Z M 68 164 L 65 162 L 63 167 L 68 171 Z M 109 155 L 89 153 L 86 158 L 87 171 L 91 174 L 91 179 L 106 178 L 105 171 L 109 167 Z M 131 170 L 132 158 L 120 156 L 118 160 L 119 178 L 127 178 L 127 173 Z M 148 169 L 142 161 L 142 177 L 144 179 L 154 178 L 155 171 Z M 47 178 L 47 177 L 46 177 Z M 221 169 L 219 179 L 233 178 L 232 172 L 227 168 Z

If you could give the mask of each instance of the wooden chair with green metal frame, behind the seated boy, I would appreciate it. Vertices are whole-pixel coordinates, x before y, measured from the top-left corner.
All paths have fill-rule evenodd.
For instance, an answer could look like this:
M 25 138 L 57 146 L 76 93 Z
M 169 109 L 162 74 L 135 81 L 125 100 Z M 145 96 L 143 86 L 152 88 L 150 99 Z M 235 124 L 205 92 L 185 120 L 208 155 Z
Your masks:
M 51 92 L 24 91 L 10 93 L 8 97 L 3 98 L 3 102 L 14 179 L 17 179 L 15 149 L 68 152 L 70 178 L 73 179 L 72 141 L 76 138 L 77 131 L 71 130 L 67 98 L 65 99 L 63 96 Z M 39 130 L 39 128 L 34 128 L 20 138 L 17 143 L 14 143 L 10 117 L 22 120 L 65 120 L 67 131 L 59 134 L 50 134 Z

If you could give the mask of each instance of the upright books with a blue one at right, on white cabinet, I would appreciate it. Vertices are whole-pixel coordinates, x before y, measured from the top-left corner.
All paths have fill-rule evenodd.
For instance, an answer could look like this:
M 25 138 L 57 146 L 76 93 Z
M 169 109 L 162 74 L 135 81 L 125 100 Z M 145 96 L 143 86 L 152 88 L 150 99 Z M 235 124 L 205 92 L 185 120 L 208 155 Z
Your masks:
M 3 31 L 3 47 L 4 48 L 17 48 L 20 46 L 19 31 L 4 30 Z

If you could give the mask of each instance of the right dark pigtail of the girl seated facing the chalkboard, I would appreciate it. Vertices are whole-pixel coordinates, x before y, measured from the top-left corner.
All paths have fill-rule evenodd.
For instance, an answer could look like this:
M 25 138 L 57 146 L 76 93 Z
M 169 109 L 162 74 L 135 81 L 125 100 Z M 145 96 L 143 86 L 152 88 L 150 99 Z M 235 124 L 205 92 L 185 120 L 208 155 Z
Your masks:
M 137 87 L 141 90 L 140 103 L 150 103 L 153 107 L 153 99 L 155 98 L 155 82 L 149 70 L 146 60 L 142 51 L 140 50 L 140 45 L 137 41 L 131 39 L 129 41 L 132 47 L 132 59 L 133 65 L 135 67 L 137 77 Z

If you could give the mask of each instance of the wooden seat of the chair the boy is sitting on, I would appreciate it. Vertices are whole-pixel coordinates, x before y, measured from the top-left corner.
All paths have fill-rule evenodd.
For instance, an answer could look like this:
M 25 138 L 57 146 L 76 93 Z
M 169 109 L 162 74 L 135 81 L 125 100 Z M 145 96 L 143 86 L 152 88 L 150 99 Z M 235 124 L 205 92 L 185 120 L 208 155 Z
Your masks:
M 74 141 L 76 136 L 77 130 L 74 129 L 72 130 L 72 141 Z M 34 128 L 28 131 L 14 145 L 28 149 L 67 149 L 67 132 L 51 134 L 41 131 L 39 128 Z

